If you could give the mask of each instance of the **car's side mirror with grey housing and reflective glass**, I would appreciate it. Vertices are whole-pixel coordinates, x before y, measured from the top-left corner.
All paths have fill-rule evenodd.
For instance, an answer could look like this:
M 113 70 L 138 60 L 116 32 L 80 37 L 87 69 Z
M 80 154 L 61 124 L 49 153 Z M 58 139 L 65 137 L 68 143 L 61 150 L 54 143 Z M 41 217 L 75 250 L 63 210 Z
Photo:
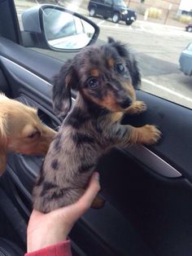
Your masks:
M 79 50 L 94 43 L 99 34 L 99 28 L 93 21 L 50 4 L 24 11 L 22 22 L 25 46 L 53 51 Z

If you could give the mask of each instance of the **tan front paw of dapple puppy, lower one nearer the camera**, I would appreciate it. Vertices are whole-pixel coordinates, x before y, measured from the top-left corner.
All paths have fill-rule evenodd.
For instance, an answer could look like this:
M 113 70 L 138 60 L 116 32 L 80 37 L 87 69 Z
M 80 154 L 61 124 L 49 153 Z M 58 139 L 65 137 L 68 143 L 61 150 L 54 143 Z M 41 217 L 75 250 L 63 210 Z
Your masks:
M 161 132 L 155 126 L 146 125 L 142 129 L 142 143 L 154 144 L 160 139 Z

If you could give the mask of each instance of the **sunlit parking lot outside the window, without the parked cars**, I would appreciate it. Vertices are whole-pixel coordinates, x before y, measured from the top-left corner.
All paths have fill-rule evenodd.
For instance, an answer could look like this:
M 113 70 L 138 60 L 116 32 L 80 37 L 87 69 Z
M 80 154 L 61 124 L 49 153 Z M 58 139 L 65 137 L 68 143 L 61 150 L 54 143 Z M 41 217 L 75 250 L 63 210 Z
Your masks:
M 107 41 L 107 37 L 113 37 L 129 44 L 137 55 L 142 71 L 142 90 L 164 99 L 171 100 L 177 104 L 192 108 L 192 77 L 185 76 L 180 70 L 179 58 L 181 52 L 192 42 L 192 33 L 185 31 L 187 24 L 192 23 L 191 11 L 182 15 L 179 10 L 179 1 L 127 1 L 134 11 L 137 11 L 137 20 L 131 25 L 124 21 L 113 23 L 111 18 L 90 17 L 87 9 L 88 0 L 81 1 L 40 1 L 40 3 L 59 4 L 70 8 L 81 15 L 85 15 L 100 27 L 100 35 L 96 43 Z M 121 1 L 119 1 L 121 2 Z M 152 4 L 153 2 L 153 4 Z M 172 4 L 171 2 L 175 2 Z M 190 2 L 190 1 L 188 1 Z M 21 14 L 23 11 L 38 4 L 37 1 L 15 0 L 15 7 L 20 21 L 20 29 L 23 29 Z M 172 5 L 171 5 L 172 4 Z M 190 4 L 190 3 L 189 3 Z M 156 17 L 151 15 L 151 8 L 156 11 Z M 192 9 L 192 7 L 191 7 Z M 186 17 L 182 20 L 178 17 Z M 190 49 L 189 49 L 190 48 Z M 188 50 L 192 49 L 188 47 Z M 68 54 L 33 49 L 41 51 L 46 55 L 54 56 L 59 60 L 66 60 Z M 192 67 L 192 57 L 189 61 Z

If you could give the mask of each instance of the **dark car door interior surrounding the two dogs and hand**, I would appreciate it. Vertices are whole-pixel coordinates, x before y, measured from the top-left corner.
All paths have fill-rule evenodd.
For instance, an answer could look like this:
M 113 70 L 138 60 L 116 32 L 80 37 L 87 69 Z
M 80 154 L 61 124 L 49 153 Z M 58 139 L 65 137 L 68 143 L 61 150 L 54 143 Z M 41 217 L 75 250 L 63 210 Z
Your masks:
M 41 121 L 58 130 L 51 83 L 63 62 L 25 47 L 24 40 L 13 0 L 0 0 L 0 91 L 37 108 Z M 123 124 L 154 124 L 162 138 L 151 146 L 114 148 L 99 161 L 106 204 L 88 210 L 72 228 L 73 255 L 191 255 L 192 111 L 142 90 L 137 99 L 146 112 L 125 116 Z M 42 161 L 9 154 L 0 178 L 0 255 L 26 252 L 31 192 Z

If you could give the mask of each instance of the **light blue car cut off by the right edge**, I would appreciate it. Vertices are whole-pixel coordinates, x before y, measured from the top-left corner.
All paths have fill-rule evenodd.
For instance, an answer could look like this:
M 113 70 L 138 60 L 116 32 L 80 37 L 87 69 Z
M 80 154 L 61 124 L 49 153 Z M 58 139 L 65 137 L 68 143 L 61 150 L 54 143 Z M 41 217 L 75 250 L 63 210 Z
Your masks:
M 181 52 L 180 69 L 186 76 L 192 76 L 192 42 Z

